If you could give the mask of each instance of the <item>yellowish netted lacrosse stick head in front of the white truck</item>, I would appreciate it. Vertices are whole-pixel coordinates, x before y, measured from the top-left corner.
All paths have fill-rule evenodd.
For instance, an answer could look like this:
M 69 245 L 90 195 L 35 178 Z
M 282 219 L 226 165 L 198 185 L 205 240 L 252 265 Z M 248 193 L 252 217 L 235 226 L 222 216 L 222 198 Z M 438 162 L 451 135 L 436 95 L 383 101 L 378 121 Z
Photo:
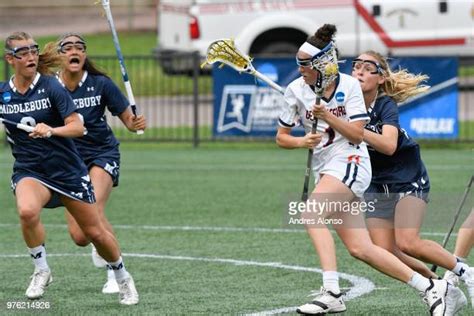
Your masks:
M 255 69 L 252 66 L 252 59 L 242 53 L 235 47 L 232 39 L 219 39 L 212 42 L 207 48 L 206 63 L 212 65 L 220 62 L 226 64 L 238 72 L 253 72 Z

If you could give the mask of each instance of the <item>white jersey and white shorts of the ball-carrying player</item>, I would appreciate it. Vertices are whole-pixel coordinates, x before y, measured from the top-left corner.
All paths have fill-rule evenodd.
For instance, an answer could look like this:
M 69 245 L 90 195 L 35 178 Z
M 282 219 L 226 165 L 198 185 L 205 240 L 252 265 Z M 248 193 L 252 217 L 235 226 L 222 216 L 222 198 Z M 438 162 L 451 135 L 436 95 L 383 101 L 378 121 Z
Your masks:
M 279 118 L 280 126 L 291 128 L 303 124 L 305 132 L 311 132 L 311 109 L 316 104 L 316 93 L 304 82 L 303 77 L 288 85 L 285 101 L 286 108 Z M 321 104 L 341 120 L 369 121 L 360 84 L 349 75 L 339 74 L 336 89 L 329 99 L 321 98 Z M 358 145 L 350 143 L 321 119 L 318 119 L 317 131 L 322 134 L 322 140 L 314 148 L 312 159 L 315 182 L 319 181 L 321 174 L 329 174 L 362 197 L 372 174 L 367 145 L 364 142 Z

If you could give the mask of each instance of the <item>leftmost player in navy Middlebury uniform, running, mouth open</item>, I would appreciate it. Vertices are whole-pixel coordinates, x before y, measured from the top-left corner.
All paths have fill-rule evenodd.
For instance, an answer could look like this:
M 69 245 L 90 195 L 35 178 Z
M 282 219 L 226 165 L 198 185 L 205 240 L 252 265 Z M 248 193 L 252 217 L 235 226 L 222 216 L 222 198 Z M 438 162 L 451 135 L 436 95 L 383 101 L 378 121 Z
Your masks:
M 28 134 L 6 125 L 15 158 L 12 189 L 23 238 L 35 266 L 25 295 L 30 299 L 42 297 L 52 281 L 41 209 L 64 205 L 114 269 L 120 303 L 137 304 L 133 279 L 124 267 L 116 240 L 99 218 L 90 176 L 72 139 L 83 135 L 83 123 L 67 91 L 56 78 L 45 75 L 49 66 L 59 65 L 60 60 L 50 54 L 40 55 L 34 39 L 23 32 L 7 37 L 5 54 L 14 75 L 0 87 L 0 115 L 34 127 Z

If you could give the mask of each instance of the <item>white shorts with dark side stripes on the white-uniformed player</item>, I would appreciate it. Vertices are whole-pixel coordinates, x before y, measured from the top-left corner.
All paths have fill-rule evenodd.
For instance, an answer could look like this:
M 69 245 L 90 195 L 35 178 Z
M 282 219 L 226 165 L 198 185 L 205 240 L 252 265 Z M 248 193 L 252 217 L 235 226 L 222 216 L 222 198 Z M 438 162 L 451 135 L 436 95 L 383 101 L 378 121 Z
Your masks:
M 365 147 L 345 146 L 326 157 L 313 156 L 315 183 L 322 174 L 331 175 L 344 183 L 359 198 L 364 196 L 372 178 L 370 157 Z

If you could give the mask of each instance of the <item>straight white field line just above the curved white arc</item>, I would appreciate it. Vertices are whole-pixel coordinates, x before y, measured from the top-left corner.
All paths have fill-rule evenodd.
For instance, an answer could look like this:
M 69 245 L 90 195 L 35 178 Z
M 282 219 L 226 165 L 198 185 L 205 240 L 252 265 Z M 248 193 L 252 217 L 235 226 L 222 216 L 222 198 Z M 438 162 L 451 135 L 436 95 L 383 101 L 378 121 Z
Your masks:
M 43 224 L 45 227 L 67 229 L 66 224 Z M 167 226 L 167 225 L 112 225 L 114 229 L 143 229 L 143 230 L 168 230 L 168 231 L 204 231 L 204 232 L 226 232 L 226 233 L 306 233 L 304 229 L 290 228 L 265 228 L 265 227 L 232 227 L 232 226 Z M 20 227 L 17 223 L 0 223 L 0 227 Z M 333 231 L 334 232 L 334 231 Z M 446 233 L 421 232 L 425 236 L 444 236 Z M 451 236 L 457 236 L 452 233 Z

